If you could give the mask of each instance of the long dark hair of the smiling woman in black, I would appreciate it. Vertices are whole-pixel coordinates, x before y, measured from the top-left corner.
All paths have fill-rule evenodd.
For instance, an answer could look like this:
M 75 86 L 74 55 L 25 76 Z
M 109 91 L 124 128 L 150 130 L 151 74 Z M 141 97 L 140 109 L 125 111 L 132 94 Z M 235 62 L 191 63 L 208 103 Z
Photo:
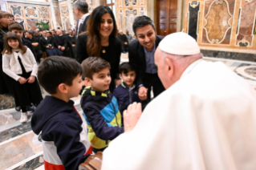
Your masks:
M 112 10 L 108 6 L 98 6 L 96 7 L 90 16 L 88 25 L 87 25 L 87 53 L 89 56 L 100 57 L 101 51 L 101 40 L 100 40 L 100 23 L 101 17 L 104 14 L 110 14 L 113 19 L 113 30 L 109 35 L 109 38 L 116 37 L 117 28 L 116 28 L 116 19 Z

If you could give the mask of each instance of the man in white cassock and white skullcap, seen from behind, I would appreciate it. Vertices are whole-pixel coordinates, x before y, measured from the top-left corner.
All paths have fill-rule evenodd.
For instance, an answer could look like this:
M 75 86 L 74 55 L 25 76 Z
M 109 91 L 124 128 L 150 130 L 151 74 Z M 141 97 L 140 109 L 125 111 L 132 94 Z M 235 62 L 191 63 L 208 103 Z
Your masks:
M 166 90 L 141 116 L 137 103 L 124 111 L 125 132 L 104 151 L 103 170 L 256 169 L 256 92 L 201 58 L 188 34 L 160 42 L 155 63 Z

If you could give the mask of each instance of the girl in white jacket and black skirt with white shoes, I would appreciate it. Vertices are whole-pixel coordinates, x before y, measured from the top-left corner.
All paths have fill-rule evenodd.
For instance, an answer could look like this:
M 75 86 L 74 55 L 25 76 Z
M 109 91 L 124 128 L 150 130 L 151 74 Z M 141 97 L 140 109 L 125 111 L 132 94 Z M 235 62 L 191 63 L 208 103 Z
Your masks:
M 12 78 L 15 103 L 22 108 L 21 123 L 27 121 L 26 106 L 37 106 L 42 100 L 39 83 L 36 79 L 37 63 L 29 48 L 24 47 L 17 34 L 6 33 L 5 49 L 2 51 L 2 70 Z

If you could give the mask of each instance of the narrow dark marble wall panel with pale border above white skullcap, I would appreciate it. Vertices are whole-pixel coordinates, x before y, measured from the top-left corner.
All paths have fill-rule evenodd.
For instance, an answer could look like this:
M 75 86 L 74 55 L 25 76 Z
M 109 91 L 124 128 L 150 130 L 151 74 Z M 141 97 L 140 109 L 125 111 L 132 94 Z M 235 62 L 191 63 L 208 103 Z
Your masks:
M 187 33 L 197 40 L 198 22 L 200 16 L 200 2 L 189 2 Z

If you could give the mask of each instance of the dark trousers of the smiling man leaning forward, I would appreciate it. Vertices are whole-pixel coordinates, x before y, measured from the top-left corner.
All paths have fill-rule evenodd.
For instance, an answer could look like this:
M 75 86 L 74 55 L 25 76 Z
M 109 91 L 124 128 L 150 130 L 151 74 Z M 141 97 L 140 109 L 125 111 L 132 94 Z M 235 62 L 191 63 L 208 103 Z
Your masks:
M 157 95 L 160 95 L 161 92 L 165 91 L 165 87 L 161 83 L 161 80 L 159 79 L 157 73 L 156 74 L 148 74 L 145 73 L 143 79 L 143 85 L 144 87 L 148 88 L 148 99 L 146 99 L 143 103 L 148 104 L 151 100 L 150 92 L 151 89 L 153 90 L 154 98 L 156 98 Z

